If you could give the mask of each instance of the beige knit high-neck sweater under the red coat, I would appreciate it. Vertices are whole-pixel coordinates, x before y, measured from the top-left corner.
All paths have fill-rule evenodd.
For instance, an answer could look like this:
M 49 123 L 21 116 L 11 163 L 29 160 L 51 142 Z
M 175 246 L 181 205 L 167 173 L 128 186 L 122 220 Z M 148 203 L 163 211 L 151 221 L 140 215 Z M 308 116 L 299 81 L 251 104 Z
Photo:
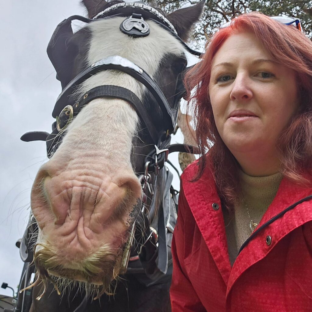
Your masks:
M 260 223 L 282 180 L 280 173 L 266 177 L 251 177 L 242 171 L 239 174 L 241 183 L 240 202 L 235 205 L 234 212 L 223 209 L 231 265 L 233 265 L 241 245 L 252 233 L 250 221 Z

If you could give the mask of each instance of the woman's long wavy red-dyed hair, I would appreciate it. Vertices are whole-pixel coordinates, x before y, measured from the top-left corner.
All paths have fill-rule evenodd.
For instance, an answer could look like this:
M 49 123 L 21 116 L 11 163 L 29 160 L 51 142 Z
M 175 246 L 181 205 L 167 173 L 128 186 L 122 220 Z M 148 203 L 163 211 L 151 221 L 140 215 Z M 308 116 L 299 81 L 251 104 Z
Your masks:
M 238 198 L 239 164 L 217 131 L 208 90 L 213 57 L 228 37 L 240 32 L 253 33 L 274 61 L 296 72 L 300 111 L 278 142 L 280 171 L 301 183 L 307 182 L 303 172 L 312 172 L 312 42 L 295 27 L 281 24 L 262 13 L 242 14 L 212 36 L 201 61 L 185 77 L 188 111 L 194 111 L 196 139 L 202 154 L 194 180 L 201 177 L 207 165 L 207 157 L 203 155 L 209 149 L 217 189 L 228 208 L 233 207 Z

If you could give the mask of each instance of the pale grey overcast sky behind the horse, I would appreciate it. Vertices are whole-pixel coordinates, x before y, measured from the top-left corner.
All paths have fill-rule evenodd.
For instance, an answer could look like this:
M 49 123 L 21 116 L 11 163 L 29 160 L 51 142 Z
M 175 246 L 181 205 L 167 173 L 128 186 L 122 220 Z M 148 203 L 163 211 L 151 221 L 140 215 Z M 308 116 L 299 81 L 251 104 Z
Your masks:
M 129 1 L 127 1 L 129 2 Z M 31 4 L 30 4 L 31 3 Z M 51 112 L 61 91 L 46 47 L 57 24 L 85 15 L 78 0 L 5 1 L 0 11 L 0 285 L 16 288 L 22 260 L 15 242 L 22 237 L 30 212 L 30 189 L 46 158 L 44 142 L 22 142 L 27 131 L 51 131 Z M 172 143 L 182 143 L 178 134 Z M 178 154 L 170 156 L 178 166 Z M 174 187 L 179 189 L 177 175 Z M 0 294 L 12 295 L 9 289 Z

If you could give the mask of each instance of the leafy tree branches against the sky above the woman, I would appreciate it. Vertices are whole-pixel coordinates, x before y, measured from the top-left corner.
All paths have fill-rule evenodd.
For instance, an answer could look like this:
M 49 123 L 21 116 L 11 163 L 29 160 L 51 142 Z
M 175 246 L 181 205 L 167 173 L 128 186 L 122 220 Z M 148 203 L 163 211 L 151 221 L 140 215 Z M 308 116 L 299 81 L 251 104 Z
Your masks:
M 182 7 L 187 7 L 199 0 L 145 0 L 148 4 L 156 4 L 163 11 L 170 13 Z M 286 15 L 300 18 L 306 34 L 312 37 L 312 1 L 296 0 L 207 0 L 201 21 L 194 32 L 196 46 L 207 40 L 213 31 L 237 14 L 250 11 L 260 11 L 269 16 Z

